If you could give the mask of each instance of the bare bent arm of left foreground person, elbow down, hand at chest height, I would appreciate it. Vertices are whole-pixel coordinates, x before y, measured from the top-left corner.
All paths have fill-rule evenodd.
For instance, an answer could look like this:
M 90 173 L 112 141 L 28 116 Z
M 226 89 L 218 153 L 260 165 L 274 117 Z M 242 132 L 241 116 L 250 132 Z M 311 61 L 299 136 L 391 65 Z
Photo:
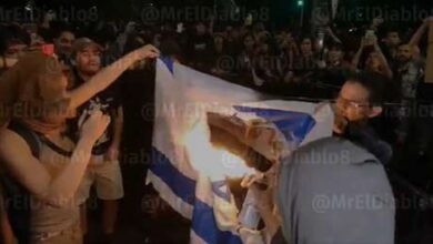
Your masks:
M 93 144 L 109 124 L 109 116 L 94 112 L 83 124 L 71 162 L 56 176 L 36 159 L 26 141 L 9 130 L 0 131 L 0 159 L 10 176 L 33 196 L 53 205 L 70 204 L 88 166 Z

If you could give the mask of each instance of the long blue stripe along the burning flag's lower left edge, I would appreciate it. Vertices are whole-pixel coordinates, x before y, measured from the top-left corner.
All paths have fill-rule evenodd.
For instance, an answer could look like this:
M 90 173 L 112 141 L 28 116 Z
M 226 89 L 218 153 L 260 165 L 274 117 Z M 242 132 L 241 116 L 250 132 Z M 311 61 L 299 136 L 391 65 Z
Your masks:
M 184 202 L 193 204 L 192 230 L 209 244 L 241 244 L 238 235 L 218 228 L 213 209 L 195 199 L 195 181 L 182 174 L 170 160 L 157 148 L 152 146 L 150 170 L 161 179 L 173 193 Z

